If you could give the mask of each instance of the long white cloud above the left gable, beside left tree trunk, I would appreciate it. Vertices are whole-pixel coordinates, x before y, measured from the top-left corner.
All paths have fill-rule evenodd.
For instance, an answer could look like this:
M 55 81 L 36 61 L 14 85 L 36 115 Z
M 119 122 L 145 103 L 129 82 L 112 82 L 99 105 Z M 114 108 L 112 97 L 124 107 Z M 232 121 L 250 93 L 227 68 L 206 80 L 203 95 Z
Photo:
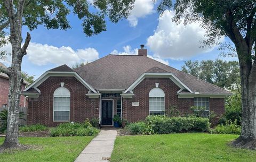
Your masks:
M 8 44 L 3 50 L 11 52 L 11 45 Z M 92 62 L 99 58 L 99 53 L 94 48 L 74 50 L 71 47 L 62 46 L 59 48 L 30 42 L 27 49 L 27 57 L 31 63 L 39 66 L 49 63 L 72 65 L 77 62 Z

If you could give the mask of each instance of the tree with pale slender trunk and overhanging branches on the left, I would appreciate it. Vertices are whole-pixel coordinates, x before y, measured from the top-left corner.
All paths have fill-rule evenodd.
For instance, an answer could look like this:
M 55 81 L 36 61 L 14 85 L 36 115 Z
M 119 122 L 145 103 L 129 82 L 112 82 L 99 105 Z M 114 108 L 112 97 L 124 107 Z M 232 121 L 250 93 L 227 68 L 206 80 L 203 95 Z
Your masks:
M 9 41 L 12 46 L 11 66 L 7 69 L 0 68 L 1 72 L 9 75 L 10 84 L 7 131 L 2 149 L 22 148 L 18 140 L 18 108 L 21 83 L 23 82 L 21 62 L 23 56 L 27 54 L 26 50 L 31 39 L 27 32 L 25 42 L 22 44 L 22 26 L 26 25 L 30 30 L 37 28 L 38 25 L 44 25 L 47 29 L 66 30 L 70 28 L 67 15 L 72 9 L 78 19 L 83 21 L 82 27 L 86 36 L 93 36 L 106 30 L 106 16 L 111 22 L 115 23 L 122 18 L 127 18 L 133 3 L 134 0 L 94 0 L 93 4 L 90 4 L 87 0 L 0 1 L 0 32 L 6 33 L 6 28 L 10 29 Z

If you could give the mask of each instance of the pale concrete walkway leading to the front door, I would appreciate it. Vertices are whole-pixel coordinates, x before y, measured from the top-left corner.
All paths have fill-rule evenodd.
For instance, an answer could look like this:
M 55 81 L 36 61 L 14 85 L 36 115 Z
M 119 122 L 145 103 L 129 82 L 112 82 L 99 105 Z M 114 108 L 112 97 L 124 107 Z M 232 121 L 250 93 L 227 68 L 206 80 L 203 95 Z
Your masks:
M 114 149 L 117 130 L 101 130 L 76 158 L 75 162 L 107 162 Z

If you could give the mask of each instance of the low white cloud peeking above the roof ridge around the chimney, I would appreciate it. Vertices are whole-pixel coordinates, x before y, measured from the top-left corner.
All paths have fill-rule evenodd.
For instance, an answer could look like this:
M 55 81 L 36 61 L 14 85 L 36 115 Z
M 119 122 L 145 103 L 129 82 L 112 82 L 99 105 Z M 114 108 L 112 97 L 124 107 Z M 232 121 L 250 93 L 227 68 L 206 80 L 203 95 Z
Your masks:
M 113 52 L 110 54 L 112 55 L 138 55 L 138 48 L 132 49 L 130 45 L 124 46 L 123 47 L 124 52 L 118 52 L 118 50 L 114 49 Z M 159 56 L 151 56 L 148 55 L 149 58 L 155 59 L 158 62 L 161 62 L 163 64 L 169 65 L 169 62 L 165 59 L 160 58 Z

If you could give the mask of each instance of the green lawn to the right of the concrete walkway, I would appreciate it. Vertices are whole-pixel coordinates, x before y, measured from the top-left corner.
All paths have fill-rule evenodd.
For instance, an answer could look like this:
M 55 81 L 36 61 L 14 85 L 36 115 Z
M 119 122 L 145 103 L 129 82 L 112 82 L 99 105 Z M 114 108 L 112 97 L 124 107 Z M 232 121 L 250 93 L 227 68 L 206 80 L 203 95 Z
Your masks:
M 111 162 L 255 162 L 256 151 L 227 145 L 237 137 L 206 133 L 121 136 L 115 141 Z

